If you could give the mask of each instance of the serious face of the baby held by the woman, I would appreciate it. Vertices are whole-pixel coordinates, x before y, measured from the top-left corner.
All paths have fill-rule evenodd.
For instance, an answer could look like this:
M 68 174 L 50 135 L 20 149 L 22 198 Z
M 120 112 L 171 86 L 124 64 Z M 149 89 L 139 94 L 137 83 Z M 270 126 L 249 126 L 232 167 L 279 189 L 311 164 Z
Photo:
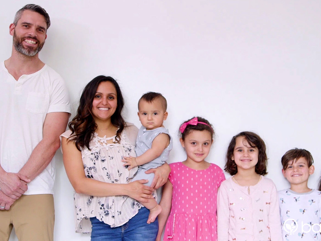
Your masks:
M 167 119 L 168 113 L 164 111 L 164 107 L 159 98 L 152 102 L 141 100 L 138 105 L 138 117 L 142 125 L 152 130 L 163 126 L 163 122 Z

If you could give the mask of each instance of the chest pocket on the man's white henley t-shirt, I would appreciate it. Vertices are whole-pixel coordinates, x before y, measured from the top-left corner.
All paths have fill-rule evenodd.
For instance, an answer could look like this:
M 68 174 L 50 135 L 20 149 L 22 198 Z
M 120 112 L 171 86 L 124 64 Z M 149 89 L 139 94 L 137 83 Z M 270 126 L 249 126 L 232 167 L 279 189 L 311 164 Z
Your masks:
M 26 102 L 26 110 L 34 113 L 41 114 L 47 112 L 49 107 L 49 94 L 39 92 L 29 92 Z

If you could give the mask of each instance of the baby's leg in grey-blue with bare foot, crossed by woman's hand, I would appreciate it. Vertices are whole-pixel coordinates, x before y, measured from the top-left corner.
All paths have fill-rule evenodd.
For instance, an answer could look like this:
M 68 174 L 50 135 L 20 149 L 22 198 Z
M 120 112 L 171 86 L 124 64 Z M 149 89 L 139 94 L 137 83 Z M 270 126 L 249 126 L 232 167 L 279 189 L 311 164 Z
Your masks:
M 146 169 L 139 168 L 135 177 L 132 179 L 132 181 L 135 180 L 141 180 L 141 179 L 147 179 L 148 183 L 145 183 L 145 185 L 150 186 L 152 184 L 152 180 L 154 179 L 154 174 L 146 174 Z M 155 192 L 155 191 L 154 191 Z M 155 192 L 156 195 L 156 192 Z M 157 198 L 157 196 L 155 197 Z M 157 204 L 155 199 L 150 199 L 148 202 L 141 202 L 145 208 L 149 209 L 150 213 L 147 219 L 147 223 L 152 223 L 157 218 L 158 214 L 161 212 L 161 207 L 159 204 Z

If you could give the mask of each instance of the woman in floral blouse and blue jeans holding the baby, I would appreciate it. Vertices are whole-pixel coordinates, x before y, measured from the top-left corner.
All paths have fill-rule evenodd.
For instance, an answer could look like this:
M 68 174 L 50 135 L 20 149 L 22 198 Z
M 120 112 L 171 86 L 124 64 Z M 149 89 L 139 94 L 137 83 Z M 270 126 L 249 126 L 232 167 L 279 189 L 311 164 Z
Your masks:
M 84 88 L 70 130 L 61 135 L 66 173 L 76 192 L 76 232 L 91 231 L 95 241 L 155 240 L 157 235 L 158 222 L 146 223 L 149 210 L 138 201 L 153 198 L 152 187 L 166 182 L 170 168 L 151 170 L 152 187 L 143 185 L 145 180 L 129 182 L 137 168 L 128 170 L 121 160 L 135 155 L 138 129 L 125 123 L 123 106 L 117 82 L 97 76 Z

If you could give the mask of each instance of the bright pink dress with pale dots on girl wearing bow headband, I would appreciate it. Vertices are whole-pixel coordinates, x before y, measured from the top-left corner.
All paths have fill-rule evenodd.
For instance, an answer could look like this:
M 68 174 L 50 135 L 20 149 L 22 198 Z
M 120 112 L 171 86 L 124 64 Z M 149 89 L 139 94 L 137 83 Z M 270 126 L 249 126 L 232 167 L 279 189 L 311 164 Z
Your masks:
M 173 195 L 164 240 L 217 240 L 216 200 L 225 180 L 222 169 L 215 164 L 205 170 L 181 162 L 169 165 Z

